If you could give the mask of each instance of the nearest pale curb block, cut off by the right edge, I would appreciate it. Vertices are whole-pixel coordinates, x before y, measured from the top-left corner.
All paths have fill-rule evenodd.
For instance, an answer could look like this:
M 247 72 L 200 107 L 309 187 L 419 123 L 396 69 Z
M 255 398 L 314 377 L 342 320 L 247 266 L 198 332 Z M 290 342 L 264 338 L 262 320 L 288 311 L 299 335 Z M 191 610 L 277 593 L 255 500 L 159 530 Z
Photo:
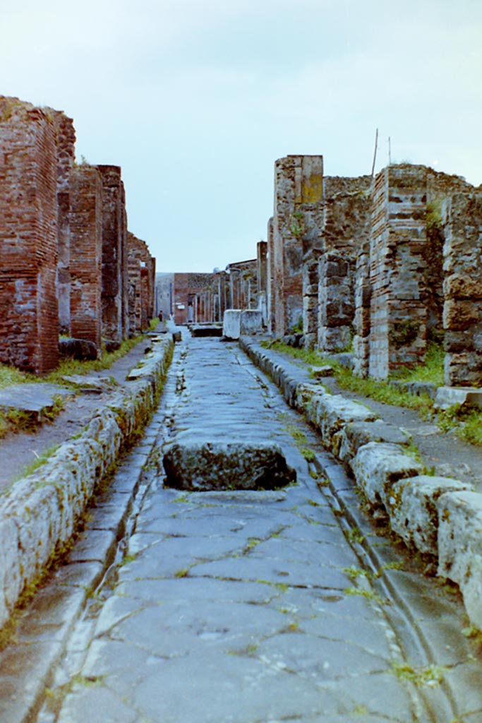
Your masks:
M 439 570 L 460 586 L 471 623 L 482 628 L 482 495 L 447 492 L 439 510 Z

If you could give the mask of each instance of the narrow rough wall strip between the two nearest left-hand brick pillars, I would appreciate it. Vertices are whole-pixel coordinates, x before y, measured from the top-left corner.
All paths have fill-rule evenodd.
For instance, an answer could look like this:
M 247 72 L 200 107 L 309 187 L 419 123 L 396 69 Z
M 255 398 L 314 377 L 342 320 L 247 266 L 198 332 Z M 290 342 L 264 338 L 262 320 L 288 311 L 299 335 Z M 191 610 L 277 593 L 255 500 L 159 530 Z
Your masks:
M 59 265 L 57 267 L 57 299 L 59 325 L 64 334 L 70 333 L 70 175 L 75 158 L 74 121 L 61 111 L 48 108 L 56 129 L 57 147 L 57 239 Z

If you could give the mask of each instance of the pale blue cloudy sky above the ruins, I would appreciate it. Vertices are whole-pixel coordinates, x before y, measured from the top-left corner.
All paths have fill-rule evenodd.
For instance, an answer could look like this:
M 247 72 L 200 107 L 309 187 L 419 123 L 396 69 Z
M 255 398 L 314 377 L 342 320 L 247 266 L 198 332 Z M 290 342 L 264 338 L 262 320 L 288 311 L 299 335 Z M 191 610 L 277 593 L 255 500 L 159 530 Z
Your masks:
M 0 94 L 122 167 L 157 270 L 256 257 L 274 163 L 423 163 L 482 184 L 480 0 L 0 0 Z

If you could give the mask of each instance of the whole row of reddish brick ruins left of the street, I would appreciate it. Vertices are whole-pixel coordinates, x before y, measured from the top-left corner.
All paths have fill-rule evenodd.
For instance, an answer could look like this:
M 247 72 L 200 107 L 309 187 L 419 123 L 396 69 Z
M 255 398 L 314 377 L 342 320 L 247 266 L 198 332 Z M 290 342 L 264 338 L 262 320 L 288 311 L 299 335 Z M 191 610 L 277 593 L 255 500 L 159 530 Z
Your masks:
M 74 143 L 63 112 L 0 96 L 0 362 L 38 375 L 59 363 L 59 332 L 99 354 L 102 339 L 119 346 L 137 333 L 121 169 L 75 164 Z M 143 262 L 145 328 L 154 304 L 148 251 Z

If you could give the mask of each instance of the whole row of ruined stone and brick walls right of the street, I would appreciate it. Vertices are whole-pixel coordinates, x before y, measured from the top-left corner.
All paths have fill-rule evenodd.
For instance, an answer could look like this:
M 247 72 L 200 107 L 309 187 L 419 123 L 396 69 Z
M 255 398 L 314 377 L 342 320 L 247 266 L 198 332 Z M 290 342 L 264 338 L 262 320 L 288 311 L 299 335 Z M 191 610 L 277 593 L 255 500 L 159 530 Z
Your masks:
M 482 189 L 409 163 L 322 174 L 321 156 L 275 163 L 269 330 L 301 332 L 301 309 L 306 348 L 352 348 L 356 373 L 376 379 L 445 338 L 446 384 L 480 384 Z

